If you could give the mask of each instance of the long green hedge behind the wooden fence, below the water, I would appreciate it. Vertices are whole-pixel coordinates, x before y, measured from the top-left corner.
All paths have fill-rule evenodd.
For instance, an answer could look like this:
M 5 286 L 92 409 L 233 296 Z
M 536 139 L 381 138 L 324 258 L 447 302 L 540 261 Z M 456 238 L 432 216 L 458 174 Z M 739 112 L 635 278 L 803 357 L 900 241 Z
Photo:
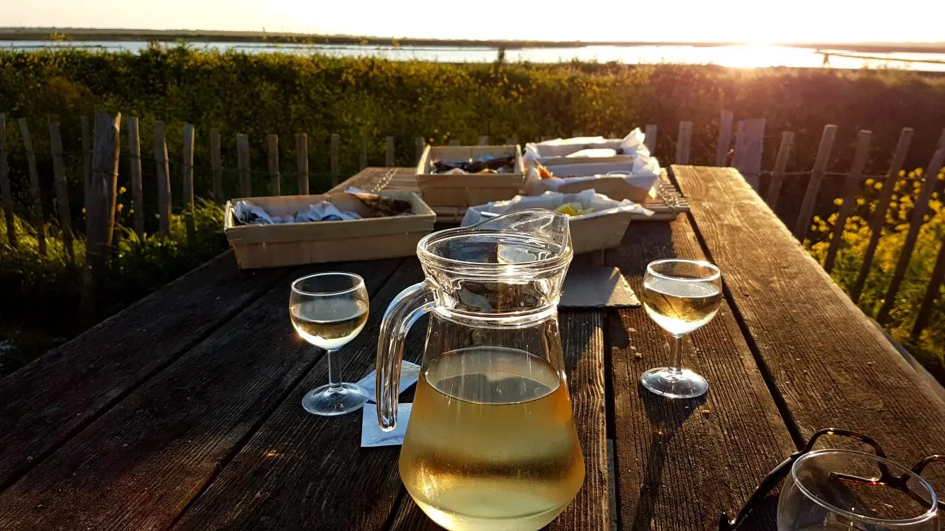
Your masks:
M 623 133 L 634 125 L 660 126 L 657 155 L 675 153 L 679 121 L 694 123 L 691 161 L 712 163 L 719 111 L 736 120 L 767 119 L 765 168 L 773 166 L 779 132 L 796 132 L 789 170 L 810 168 L 824 124 L 840 125 L 833 171 L 845 171 L 856 130 L 874 132 L 868 171 L 885 171 L 899 129 L 916 129 L 906 167 L 924 165 L 945 124 L 945 76 L 900 71 L 836 71 L 713 66 L 626 66 L 615 63 L 448 64 L 290 54 L 242 54 L 152 47 L 140 55 L 66 49 L 0 52 L 0 112 L 8 114 L 7 141 L 14 189 L 26 196 L 26 164 L 11 118 L 26 117 L 34 143 L 46 149 L 46 116 L 58 114 L 69 153 L 70 179 L 78 172 L 78 118 L 95 109 L 141 118 L 142 151 L 152 152 L 151 122 L 166 124 L 173 190 L 180 188 L 180 129 L 198 127 L 198 193 L 210 190 L 209 132 L 223 136 L 224 165 L 235 168 L 237 132 L 249 133 L 254 187 L 266 191 L 267 133 L 282 139 L 283 191 L 296 190 L 294 142 L 309 135 L 313 188 L 327 186 L 329 138 L 341 135 L 344 174 L 357 168 L 359 137 L 369 142 L 369 161 L 382 164 L 384 137 L 396 139 L 397 162 L 414 161 L 414 139 L 475 142 L 480 135 L 520 141 L 574 131 Z M 124 145 L 123 150 L 127 150 Z M 48 157 L 39 157 L 41 168 Z M 127 162 L 123 161 L 123 164 Z M 153 162 L 145 160 L 146 179 Z M 124 168 L 123 168 L 124 170 Z M 43 177 L 51 172 L 41 172 Z M 128 174 L 123 171 L 123 178 Z M 235 171 L 225 173 L 236 193 Z M 829 208 L 836 195 L 828 179 Z M 786 183 L 790 197 L 804 179 Z M 76 181 L 77 182 L 77 181 Z M 147 186 L 151 193 L 153 186 Z M 76 187 L 73 187 L 76 190 Z M 45 190 L 52 190 L 51 186 Z M 51 194 L 49 194 L 51 195 Z M 73 203 L 81 207 L 74 194 Z M 180 193 L 176 195 L 180 196 Z M 150 199 L 149 199 L 150 201 Z M 148 204 L 148 212 L 154 208 Z M 787 210 L 794 202 L 784 204 Z M 75 208 L 74 208 L 75 209 Z M 52 211 L 47 208 L 48 211 Z M 788 212 L 787 217 L 793 212 Z

